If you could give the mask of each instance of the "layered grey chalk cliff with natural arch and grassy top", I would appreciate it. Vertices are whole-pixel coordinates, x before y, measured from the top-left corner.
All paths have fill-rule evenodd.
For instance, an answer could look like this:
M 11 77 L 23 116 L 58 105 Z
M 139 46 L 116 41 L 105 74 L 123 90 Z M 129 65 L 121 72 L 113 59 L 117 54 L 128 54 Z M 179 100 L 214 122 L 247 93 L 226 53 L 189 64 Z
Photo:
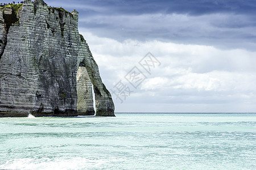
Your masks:
M 78 12 L 42 0 L 0 9 L 0 116 L 114 116 Z

